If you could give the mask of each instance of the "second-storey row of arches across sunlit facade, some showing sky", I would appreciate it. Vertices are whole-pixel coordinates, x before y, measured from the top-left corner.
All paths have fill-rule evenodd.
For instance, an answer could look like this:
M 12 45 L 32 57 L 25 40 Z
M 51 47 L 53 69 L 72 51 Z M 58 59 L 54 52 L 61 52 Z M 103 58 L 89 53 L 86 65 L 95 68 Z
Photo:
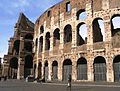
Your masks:
M 118 36 L 119 37 L 119 31 L 120 31 L 120 15 L 116 14 L 111 17 L 110 20 L 111 23 L 111 37 Z M 84 22 L 79 23 L 76 26 L 77 29 L 77 46 L 83 45 L 87 43 L 87 37 L 88 37 L 88 27 Z M 93 43 L 95 42 L 103 42 L 105 41 L 105 28 L 104 28 L 104 20 L 100 17 L 95 18 L 92 22 L 92 29 L 93 29 Z M 44 32 L 44 27 L 42 26 L 42 33 Z M 41 31 L 40 30 L 40 31 Z M 70 24 L 67 24 L 64 27 L 64 37 L 63 41 L 64 44 L 68 42 L 72 42 L 72 26 Z M 45 36 L 45 50 L 50 49 L 50 38 L 51 34 L 50 32 L 46 33 Z M 36 39 L 38 41 L 38 39 Z M 40 51 L 42 51 L 43 47 L 43 36 L 40 37 Z M 60 29 L 56 28 L 53 32 L 53 46 L 58 46 L 60 44 Z

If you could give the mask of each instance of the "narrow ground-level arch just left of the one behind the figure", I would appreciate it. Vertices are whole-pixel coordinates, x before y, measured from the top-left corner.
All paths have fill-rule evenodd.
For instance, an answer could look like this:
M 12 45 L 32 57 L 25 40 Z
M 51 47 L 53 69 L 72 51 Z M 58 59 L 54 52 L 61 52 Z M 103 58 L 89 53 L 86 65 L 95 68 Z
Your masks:
M 52 72 L 53 72 L 53 80 L 57 80 L 58 79 L 58 62 L 57 61 L 53 61 L 52 63 Z

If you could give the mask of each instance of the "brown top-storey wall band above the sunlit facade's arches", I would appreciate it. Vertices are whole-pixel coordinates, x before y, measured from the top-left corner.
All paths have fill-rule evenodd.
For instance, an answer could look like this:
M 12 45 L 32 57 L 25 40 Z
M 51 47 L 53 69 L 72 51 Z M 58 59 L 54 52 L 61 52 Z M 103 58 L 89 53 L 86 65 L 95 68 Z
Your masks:
M 71 10 L 70 12 L 66 12 L 66 4 L 70 2 Z M 38 29 L 40 26 L 44 25 L 50 29 L 51 28 L 51 20 L 52 17 L 54 17 L 54 23 L 56 24 L 60 22 L 60 14 L 64 14 L 64 19 L 67 20 L 70 19 L 72 15 L 72 9 L 76 9 L 76 11 L 79 11 L 80 9 L 86 9 L 86 6 L 90 5 L 90 10 L 92 13 L 99 12 L 104 9 L 112 9 L 120 7 L 119 0 L 63 0 L 62 2 L 59 2 L 58 4 L 50 7 L 48 10 L 46 10 L 36 21 L 35 27 Z M 35 30 L 36 30 L 35 29 Z M 36 31 L 37 33 L 38 31 Z

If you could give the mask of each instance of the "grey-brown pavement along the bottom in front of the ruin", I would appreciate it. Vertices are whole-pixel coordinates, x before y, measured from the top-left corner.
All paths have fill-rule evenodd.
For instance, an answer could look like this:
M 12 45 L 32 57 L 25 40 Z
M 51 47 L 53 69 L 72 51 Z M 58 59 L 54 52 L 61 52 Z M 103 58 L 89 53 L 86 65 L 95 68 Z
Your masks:
M 71 91 L 120 91 L 120 83 L 72 83 Z M 69 91 L 66 83 L 0 82 L 0 91 Z

